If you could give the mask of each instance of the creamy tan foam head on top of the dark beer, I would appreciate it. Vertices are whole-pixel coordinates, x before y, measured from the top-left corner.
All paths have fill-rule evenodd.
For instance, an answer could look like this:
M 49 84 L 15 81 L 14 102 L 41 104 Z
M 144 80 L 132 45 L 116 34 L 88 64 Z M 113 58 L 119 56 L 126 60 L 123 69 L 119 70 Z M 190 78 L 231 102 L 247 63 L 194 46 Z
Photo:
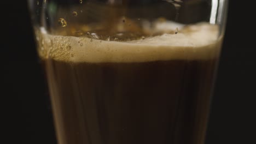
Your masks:
M 222 37 L 218 26 L 198 23 L 177 34 L 162 34 L 132 41 L 106 41 L 41 33 L 39 55 L 70 62 L 149 62 L 172 59 L 212 59 L 219 55 Z M 43 47 L 43 48 L 42 48 Z

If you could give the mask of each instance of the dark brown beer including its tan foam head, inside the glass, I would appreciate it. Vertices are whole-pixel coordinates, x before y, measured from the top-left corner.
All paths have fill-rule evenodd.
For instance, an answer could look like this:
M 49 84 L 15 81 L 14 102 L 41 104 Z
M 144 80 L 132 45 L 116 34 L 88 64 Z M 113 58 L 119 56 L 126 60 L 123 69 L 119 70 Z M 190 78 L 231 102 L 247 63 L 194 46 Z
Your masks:
M 41 34 L 59 143 L 202 144 L 221 40 L 216 26 L 190 28 L 122 42 Z

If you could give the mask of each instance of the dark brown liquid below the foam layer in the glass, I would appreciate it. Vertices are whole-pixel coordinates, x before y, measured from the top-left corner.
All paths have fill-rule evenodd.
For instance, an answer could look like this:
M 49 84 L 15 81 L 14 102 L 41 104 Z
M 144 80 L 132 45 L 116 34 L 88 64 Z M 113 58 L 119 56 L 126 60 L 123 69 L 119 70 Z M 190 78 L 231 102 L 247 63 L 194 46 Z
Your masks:
M 202 144 L 217 59 L 44 59 L 61 144 Z

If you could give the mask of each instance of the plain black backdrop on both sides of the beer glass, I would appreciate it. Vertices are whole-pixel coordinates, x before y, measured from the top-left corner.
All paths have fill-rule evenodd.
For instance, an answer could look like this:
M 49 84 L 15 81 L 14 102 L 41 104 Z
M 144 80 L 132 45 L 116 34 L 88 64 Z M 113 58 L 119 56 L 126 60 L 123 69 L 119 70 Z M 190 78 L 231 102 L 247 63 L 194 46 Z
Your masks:
M 255 143 L 253 5 L 230 0 L 207 144 Z M 26 1 L 1 2 L 1 119 L 7 143 L 56 143 Z M 6 8 L 6 10 L 4 9 Z M 252 29 L 251 29 L 252 28 Z M 251 35 L 249 35 L 251 34 Z

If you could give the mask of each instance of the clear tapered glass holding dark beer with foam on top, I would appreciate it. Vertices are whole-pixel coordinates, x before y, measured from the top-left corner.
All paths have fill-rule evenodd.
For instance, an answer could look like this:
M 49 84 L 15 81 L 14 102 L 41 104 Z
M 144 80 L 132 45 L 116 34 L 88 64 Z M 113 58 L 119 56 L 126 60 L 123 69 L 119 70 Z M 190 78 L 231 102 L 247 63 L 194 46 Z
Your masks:
M 226 0 L 28 0 L 60 144 L 202 144 Z

